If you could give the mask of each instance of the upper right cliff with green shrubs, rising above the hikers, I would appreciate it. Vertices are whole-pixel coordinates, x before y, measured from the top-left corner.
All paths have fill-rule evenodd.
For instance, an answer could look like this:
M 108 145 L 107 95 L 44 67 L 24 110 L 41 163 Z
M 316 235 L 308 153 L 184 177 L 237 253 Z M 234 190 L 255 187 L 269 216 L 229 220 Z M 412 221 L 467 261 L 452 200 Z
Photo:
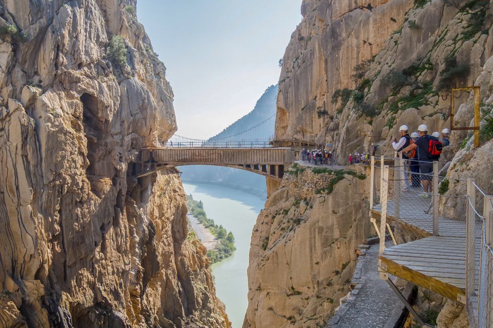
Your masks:
M 449 87 L 472 85 L 493 55 L 490 3 L 343 3 L 302 4 L 283 57 L 276 139 L 331 142 L 343 162 L 372 143 L 378 155 L 393 152 L 402 124 L 448 127 Z

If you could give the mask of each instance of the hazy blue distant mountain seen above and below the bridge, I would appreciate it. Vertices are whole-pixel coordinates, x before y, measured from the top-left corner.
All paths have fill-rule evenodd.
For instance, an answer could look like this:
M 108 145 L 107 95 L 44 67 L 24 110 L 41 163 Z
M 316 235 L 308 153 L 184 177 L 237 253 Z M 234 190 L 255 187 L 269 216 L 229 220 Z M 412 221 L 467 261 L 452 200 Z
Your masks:
M 250 113 L 241 117 L 222 132 L 210 138 L 208 142 L 214 140 L 222 142 L 237 141 L 238 138 L 245 140 L 251 140 L 252 138 L 262 141 L 270 140 L 271 136 L 274 135 L 274 117 L 266 122 L 266 124 L 263 124 L 261 128 L 255 129 L 255 133 L 252 132 L 251 135 L 242 134 L 241 136 L 228 137 L 248 130 L 275 115 L 277 89 L 277 85 L 267 88 Z M 183 166 L 180 167 L 180 170 L 183 172 L 183 180 L 192 182 L 215 182 L 227 187 L 262 194 L 267 197 L 266 179 L 255 173 L 233 168 L 205 165 Z

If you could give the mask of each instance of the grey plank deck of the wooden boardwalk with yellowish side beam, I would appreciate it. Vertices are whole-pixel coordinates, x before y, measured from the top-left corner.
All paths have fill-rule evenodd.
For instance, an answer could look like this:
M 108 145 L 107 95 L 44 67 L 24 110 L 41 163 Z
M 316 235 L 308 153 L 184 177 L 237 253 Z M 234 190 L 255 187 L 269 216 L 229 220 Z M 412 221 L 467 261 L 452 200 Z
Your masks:
M 430 199 L 402 197 L 400 220 L 395 222 L 395 203 L 388 201 L 387 223 L 399 223 L 400 229 L 422 239 L 387 247 L 378 256 L 380 271 L 465 304 L 465 222 L 441 217 L 439 236 L 432 236 L 432 214 L 426 213 L 429 203 Z M 380 220 L 381 209 L 381 204 L 375 206 L 371 217 Z

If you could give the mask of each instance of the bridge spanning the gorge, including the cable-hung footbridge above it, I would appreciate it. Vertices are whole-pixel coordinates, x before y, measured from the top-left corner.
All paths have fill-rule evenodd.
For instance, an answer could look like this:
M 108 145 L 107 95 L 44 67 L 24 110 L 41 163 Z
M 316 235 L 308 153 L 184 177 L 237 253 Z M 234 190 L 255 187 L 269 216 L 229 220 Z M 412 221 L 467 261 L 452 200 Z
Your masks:
M 272 115 L 243 131 L 220 133 L 206 140 L 174 134 L 169 140 L 142 149 L 132 174 L 144 177 L 179 166 L 213 165 L 257 173 L 268 178 L 268 185 L 269 180 L 278 184 L 300 148 L 315 145 L 300 140 L 273 140 L 274 119 Z

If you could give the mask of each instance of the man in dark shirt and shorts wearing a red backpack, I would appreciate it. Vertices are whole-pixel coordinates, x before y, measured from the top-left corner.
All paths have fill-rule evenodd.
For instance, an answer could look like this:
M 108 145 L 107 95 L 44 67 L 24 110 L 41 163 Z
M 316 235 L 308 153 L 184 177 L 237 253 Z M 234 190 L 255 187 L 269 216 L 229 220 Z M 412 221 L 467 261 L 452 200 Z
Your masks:
M 403 153 L 412 151 L 416 147 L 418 148 L 418 158 L 420 160 L 420 179 L 423 183 L 424 193 L 420 194 L 420 197 L 428 198 L 429 193 L 433 191 L 433 161 L 437 160 L 438 156 L 442 153 L 443 144 L 438 139 L 431 135 L 428 135 L 428 127 L 424 124 L 418 127 L 419 138 L 410 144 L 408 147 L 402 150 Z M 438 174 L 438 172 L 436 172 Z

